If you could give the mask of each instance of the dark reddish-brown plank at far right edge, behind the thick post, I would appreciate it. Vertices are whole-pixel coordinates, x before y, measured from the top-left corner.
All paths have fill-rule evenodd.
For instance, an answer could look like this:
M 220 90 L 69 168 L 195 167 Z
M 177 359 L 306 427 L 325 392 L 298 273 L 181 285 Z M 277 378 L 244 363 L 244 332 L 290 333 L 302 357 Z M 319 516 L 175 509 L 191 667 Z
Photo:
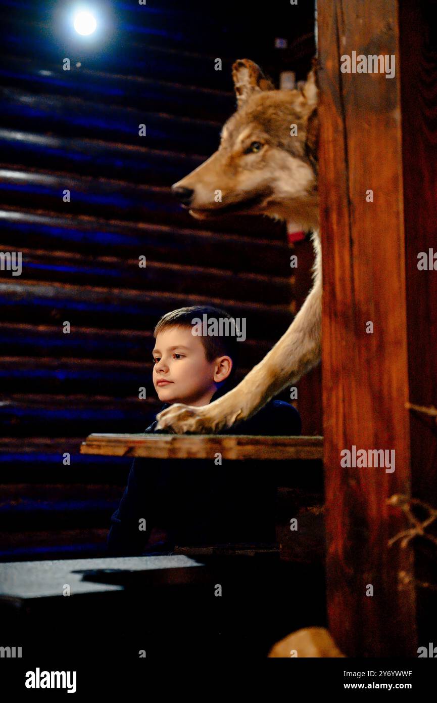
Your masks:
M 434 255 L 437 252 L 436 2 L 403 0 L 399 13 L 402 112 L 407 116 L 403 179 L 410 401 L 429 407 L 437 406 L 437 271 L 429 264 L 427 269 L 419 269 L 418 254 L 429 254 L 429 249 Z M 437 508 L 436 419 L 410 411 L 410 443 L 412 494 Z M 433 535 L 435 538 L 435 530 Z M 431 549 L 426 548 L 422 540 L 413 544 L 416 579 L 436 586 L 435 547 L 430 544 Z M 418 589 L 417 612 L 419 643 L 427 646 L 436 633 L 435 591 Z

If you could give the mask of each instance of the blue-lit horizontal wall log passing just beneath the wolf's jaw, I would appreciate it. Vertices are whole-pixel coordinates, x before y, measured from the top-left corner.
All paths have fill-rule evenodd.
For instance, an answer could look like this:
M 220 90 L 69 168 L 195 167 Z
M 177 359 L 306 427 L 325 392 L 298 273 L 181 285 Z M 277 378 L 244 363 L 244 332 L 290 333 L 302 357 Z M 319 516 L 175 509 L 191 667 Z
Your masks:
M 235 220 L 235 218 L 234 218 Z M 101 256 L 138 258 L 143 254 L 156 262 L 193 263 L 193 250 L 201 266 L 230 271 L 290 275 L 289 247 L 282 241 L 235 236 L 224 231 L 195 230 L 147 222 L 105 220 L 98 217 L 62 216 L 33 212 L 23 207 L 0 209 L 1 242 L 11 251 L 19 247 L 72 251 Z M 188 224 L 188 222 L 187 222 Z M 191 224 L 191 222 L 189 223 Z M 12 247 L 12 248 L 11 248 Z M 232 255 L 230 255 L 232 252 Z

